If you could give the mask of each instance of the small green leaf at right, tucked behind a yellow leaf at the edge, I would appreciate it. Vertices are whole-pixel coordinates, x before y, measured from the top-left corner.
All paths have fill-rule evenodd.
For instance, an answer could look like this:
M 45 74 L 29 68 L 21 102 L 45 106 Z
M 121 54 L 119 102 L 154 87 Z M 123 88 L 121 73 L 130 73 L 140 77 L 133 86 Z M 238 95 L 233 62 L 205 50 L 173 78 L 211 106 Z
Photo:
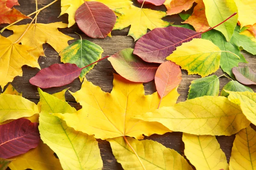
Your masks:
M 244 85 L 240 84 L 238 81 L 234 81 L 234 80 L 231 80 L 226 85 L 224 85 L 224 87 L 221 90 L 221 96 L 227 97 L 229 94 L 227 92 L 225 92 L 224 90 L 240 91 L 240 92 L 243 92 L 243 91 L 253 92 L 253 90 L 251 88 L 244 86 Z

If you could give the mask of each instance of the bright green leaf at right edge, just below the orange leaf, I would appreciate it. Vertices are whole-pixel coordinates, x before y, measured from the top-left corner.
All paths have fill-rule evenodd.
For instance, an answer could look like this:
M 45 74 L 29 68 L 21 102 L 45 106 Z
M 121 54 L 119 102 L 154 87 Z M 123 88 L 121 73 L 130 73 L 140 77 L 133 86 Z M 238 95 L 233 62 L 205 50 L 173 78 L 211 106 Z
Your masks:
M 233 37 L 230 40 L 231 44 L 238 48 L 242 48 L 253 55 L 256 55 L 256 42 L 251 40 L 250 37 L 247 37 L 246 35 L 239 34 L 239 31 L 240 26 L 236 26 Z

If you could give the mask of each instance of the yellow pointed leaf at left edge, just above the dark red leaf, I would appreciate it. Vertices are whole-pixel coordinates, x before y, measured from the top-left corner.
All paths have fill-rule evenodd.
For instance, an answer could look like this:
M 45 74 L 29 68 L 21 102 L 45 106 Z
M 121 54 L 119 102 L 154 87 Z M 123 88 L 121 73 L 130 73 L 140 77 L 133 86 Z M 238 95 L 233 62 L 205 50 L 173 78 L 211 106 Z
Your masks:
M 10 119 L 29 117 L 39 113 L 37 105 L 23 98 L 11 94 L 0 94 L 0 123 Z

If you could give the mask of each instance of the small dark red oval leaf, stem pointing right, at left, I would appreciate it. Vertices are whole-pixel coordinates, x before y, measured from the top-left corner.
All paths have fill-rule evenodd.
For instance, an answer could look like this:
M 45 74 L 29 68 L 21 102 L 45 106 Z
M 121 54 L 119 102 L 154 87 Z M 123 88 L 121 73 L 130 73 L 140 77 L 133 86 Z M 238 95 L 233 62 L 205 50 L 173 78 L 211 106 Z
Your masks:
M 82 68 L 76 64 L 53 64 L 40 70 L 29 82 L 40 88 L 61 87 L 70 84 L 79 77 Z

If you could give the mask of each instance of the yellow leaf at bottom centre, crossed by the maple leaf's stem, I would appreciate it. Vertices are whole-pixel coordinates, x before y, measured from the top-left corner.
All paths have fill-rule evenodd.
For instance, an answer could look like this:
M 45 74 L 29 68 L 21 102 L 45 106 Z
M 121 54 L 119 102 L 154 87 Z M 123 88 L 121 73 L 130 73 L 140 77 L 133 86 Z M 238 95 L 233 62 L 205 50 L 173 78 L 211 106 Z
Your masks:
M 138 141 L 127 137 L 146 170 L 192 170 L 186 159 L 173 149 L 151 140 Z M 125 170 L 143 170 L 140 161 L 123 137 L 107 139 L 113 155 Z

